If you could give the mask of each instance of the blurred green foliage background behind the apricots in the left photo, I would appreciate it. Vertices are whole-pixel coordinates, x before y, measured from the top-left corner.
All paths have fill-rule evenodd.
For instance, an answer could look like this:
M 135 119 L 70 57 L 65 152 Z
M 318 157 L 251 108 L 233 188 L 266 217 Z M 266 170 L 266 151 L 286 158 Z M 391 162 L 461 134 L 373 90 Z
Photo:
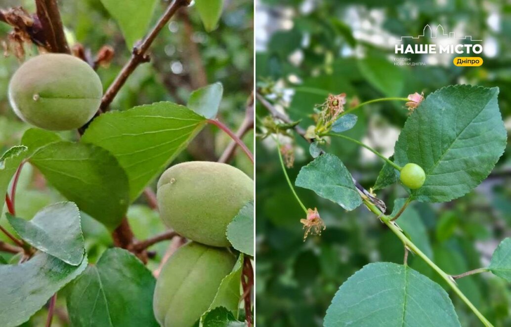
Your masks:
M 156 6 L 151 26 L 168 6 L 161 1 Z M 0 8 L 21 6 L 29 13 L 35 12 L 34 1 L 2 0 Z M 59 1 L 59 8 L 70 46 L 80 43 L 94 58 L 103 45 L 110 45 L 115 51 L 108 66 L 99 67 L 98 74 L 104 89 L 113 81 L 122 66 L 128 61 L 131 49 L 127 49 L 119 26 L 109 16 L 99 0 Z M 11 27 L 0 22 L 0 41 L 7 41 Z M 21 135 L 30 126 L 21 122 L 12 111 L 7 95 L 8 83 L 22 61 L 37 55 L 34 45 L 25 46 L 26 57 L 16 58 L 6 52 L 0 59 L 0 153 L 18 145 Z M 232 130 L 236 130 L 245 117 L 245 105 L 253 89 L 253 1 L 241 0 L 224 2 L 224 11 L 219 27 L 206 33 L 193 6 L 182 10 L 171 20 L 154 41 L 151 62 L 142 64 L 130 76 L 111 105 L 111 110 L 126 110 L 136 105 L 159 101 L 173 101 L 185 104 L 189 94 L 206 84 L 221 82 L 224 96 L 219 110 L 219 119 Z M 62 133 L 69 140 L 76 140 L 78 133 Z M 207 126 L 183 151 L 174 163 L 189 160 L 216 161 L 229 144 L 230 138 L 215 127 Z M 244 137 L 252 149 L 253 133 Z M 253 176 L 253 166 L 245 154 L 237 151 L 232 165 Z M 153 190 L 155 188 L 155 183 Z M 42 175 L 30 165 L 22 170 L 16 196 L 18 217 L 31 219 L 42 207 L 62 201 L 57 191 L 48 185 Z M 146 202 L 138 199 L 129 209 L 128 219 L 138 239 L 146 239 L 166 230 L 159 216 Z M 0 223 L 9 228 L 5 217 Z M 112 246 L 112 239 L 106 228 L 85 214 L 82 214 L 82 228 L 89 262 L 94 263 L 101 253 Z M 0 235 L 0 240 L 8 241 Z M 161 242 L 150 250 L 156 256 L 148 264 L 154 270 L 158 267 L 169 242 Z M 4 258 L 8 254 L 2 253 Z M 16 258 L 11 258 L 13 262 Z M 59 296 L 55 326 L 67 325 L 65 301 Z M 43 308 L 27 322 L 26 326 L 44 325 L 47 311 Z M 59 318 L 60 317 L 60 318 Z

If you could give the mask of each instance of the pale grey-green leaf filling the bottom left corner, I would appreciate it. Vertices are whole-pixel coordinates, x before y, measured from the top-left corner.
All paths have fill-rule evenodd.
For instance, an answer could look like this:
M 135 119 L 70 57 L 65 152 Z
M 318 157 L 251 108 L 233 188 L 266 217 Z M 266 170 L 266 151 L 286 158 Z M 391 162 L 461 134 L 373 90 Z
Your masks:
M 87 267 L 71 266 L 46 253 L 19 265 L 0 265 L 0 326 L 27 321 L 50 297 Z

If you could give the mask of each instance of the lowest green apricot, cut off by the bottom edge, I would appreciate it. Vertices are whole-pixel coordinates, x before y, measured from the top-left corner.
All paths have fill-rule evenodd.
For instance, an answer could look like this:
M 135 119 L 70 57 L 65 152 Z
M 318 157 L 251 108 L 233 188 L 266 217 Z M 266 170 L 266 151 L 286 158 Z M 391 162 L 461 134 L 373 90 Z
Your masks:
M 225 248 L 196 242 L 180 247 L 156 281 L 156 320 L 162 327 L 191 327 L 210 308 L 222 279 L 235 264 L 235 256 Z

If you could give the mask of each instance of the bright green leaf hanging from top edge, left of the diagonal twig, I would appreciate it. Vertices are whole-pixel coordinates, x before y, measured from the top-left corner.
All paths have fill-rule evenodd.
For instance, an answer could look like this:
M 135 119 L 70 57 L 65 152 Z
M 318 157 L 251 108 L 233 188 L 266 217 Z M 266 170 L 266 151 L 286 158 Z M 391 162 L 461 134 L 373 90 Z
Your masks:
M 146 34 L 156 0 L 101 0 L 103 6 L 121 27 L 126 46 L 131 50 Z

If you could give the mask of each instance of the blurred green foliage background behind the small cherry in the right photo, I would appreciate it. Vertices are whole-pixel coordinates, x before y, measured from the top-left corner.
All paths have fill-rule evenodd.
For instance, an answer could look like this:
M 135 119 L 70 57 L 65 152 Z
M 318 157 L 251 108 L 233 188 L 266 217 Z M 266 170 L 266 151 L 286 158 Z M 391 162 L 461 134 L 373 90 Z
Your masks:
M 504 1 L 309 1 L 261 0 L 256 9 L 256 79 L 261 92 L 291 119 L 311 124 L 309 115 L 326 96 L 347 94 L 347 103 L 382 97 L 407 97 L 450 84 L 499 87 L 499 106 L 511 128 L 511 5 Z M 391 40 L 420 35 L 426 24 L 442 24 L 456 35 L 482 39 L 484 64 L 456 67 L 454 56 L 407 55 L 426 66 L 394 66 Z M 266 88 L 266 89 L 264 89 Z M 271 89 L 271 90 L 269 90 Z M 257 114 L 267 110 L 258 105 Z M 387 156 L 406 118 L 403 103 L 385 102 L 356 112 L 358 122 L 346 135 Z M 285 140 L 285 139 L 284 139 Z M 312 160 L 309 145 L 296 137 L 294 182 Z M 370 262 L 403 263 L 403 246 L 363 206 L 344 212 L 312 191 L 296 188 L 305 205 L 317 207 L 327 229 L 303 241 L 304 214 L 285 182 L 271 137 L 257 144 L 257 322 L 260 326 L 320 326 L 339 286 Z M 509 150 L 509 149 L 508 149 Z M 511 235 L 511 158 L 506 151 L 494 172 L 470 194 L 449 203 L 413 203 L 406 217 L 416 224 L 422 247 L 450 274 L 486 266 L 499 242 Z M 334 139 L 327 151 L 339 156 L 367 189 L 383 161 L 354 144 Z M 400 185 L 377 191 L 391 211 L 405 196 Z M 442 283 L 419 258 L 412 268 Z M 459 279 L 459 288 L 496 326 L 511 325 L 511 287 L 491 273 Z M 448 292 L 448 290 L 446 288 Z M 463 326 L 480 322 L 450 292 Z

